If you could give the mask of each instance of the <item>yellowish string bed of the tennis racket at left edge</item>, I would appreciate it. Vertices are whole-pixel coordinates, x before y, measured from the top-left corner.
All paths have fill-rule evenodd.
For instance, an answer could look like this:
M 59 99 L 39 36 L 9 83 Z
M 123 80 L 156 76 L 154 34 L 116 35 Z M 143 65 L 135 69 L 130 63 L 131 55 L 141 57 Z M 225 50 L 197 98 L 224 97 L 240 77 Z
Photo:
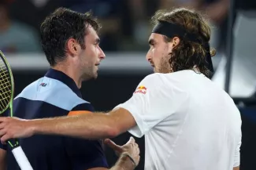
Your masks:
M 9 104 L 12 86 L 9 78 L 9 71 L 6 64 L 0 60 L 0 110 L 3 110 Z

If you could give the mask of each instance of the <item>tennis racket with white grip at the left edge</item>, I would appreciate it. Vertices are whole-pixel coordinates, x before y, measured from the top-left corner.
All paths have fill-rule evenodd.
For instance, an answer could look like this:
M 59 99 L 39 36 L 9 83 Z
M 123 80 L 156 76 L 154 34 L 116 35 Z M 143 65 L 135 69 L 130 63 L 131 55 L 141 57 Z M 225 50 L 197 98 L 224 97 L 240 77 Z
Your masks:
M 4 113 L 9 108 L 9 116 L 13 117 L 13 92 L 14 81 L 13 73 L 9 67 L 6 57 L 0 50 L 0 114 Z M 7 141 L 13 155 L 20 166 L 21 170 L 33 170 L 28 158 L 20 147 L 17 139 Z

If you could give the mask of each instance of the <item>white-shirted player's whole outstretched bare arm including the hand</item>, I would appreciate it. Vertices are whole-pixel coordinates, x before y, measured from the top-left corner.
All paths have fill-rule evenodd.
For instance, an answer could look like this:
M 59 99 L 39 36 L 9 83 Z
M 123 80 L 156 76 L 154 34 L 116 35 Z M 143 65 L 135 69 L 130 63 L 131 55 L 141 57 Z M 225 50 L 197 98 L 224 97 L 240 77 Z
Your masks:
M 135 125 L 132 114 L 128 110 L 120 108 L 112 110 L 108 114 L 80 114 L 30 121 L 18 118 L 0 118 L 0 136 L 2 142 L 7 139 L 29 137 L 34 134 L 102 139 L 118 136 Z

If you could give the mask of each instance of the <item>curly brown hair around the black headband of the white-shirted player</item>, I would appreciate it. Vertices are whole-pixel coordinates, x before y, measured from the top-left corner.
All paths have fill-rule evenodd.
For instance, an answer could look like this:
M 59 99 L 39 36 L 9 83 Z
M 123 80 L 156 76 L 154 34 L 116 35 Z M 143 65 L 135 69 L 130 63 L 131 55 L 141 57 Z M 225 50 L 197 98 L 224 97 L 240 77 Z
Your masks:
M 173 48 L 169 63 L 172 71 L 187 70 L 197 66 L 202 74 L 208 78 L 211 71 L 206 66 L 206 48 L 205 43 L 210 41 L 210 26 L 206 24 L 206 20 L 202 15 L 189 9 L 171 9 L 159 10 L 152 17 L 152 23 L 158 24 L 159 21 L 165 21 L 184 27 L 191 34 L 196 34 L 200 42 L 191 42 L 186 38 L 180 38 L 180 44 Z M 164 37 L 165 42 L 171 42 L 173 38 Z M 210 51 L 211 56 L 215 55 L 215 50 Z

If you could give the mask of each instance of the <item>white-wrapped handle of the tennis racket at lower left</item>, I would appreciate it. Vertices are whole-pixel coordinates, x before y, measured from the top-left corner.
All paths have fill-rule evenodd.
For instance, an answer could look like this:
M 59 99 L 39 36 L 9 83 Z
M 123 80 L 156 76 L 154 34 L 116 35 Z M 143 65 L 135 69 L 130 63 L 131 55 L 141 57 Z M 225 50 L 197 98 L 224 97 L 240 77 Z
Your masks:
M 21 170 L 33 170 L 32 165 L 30 165 L 28 158 L 20 146 L 14 148 L 12 152 Z

